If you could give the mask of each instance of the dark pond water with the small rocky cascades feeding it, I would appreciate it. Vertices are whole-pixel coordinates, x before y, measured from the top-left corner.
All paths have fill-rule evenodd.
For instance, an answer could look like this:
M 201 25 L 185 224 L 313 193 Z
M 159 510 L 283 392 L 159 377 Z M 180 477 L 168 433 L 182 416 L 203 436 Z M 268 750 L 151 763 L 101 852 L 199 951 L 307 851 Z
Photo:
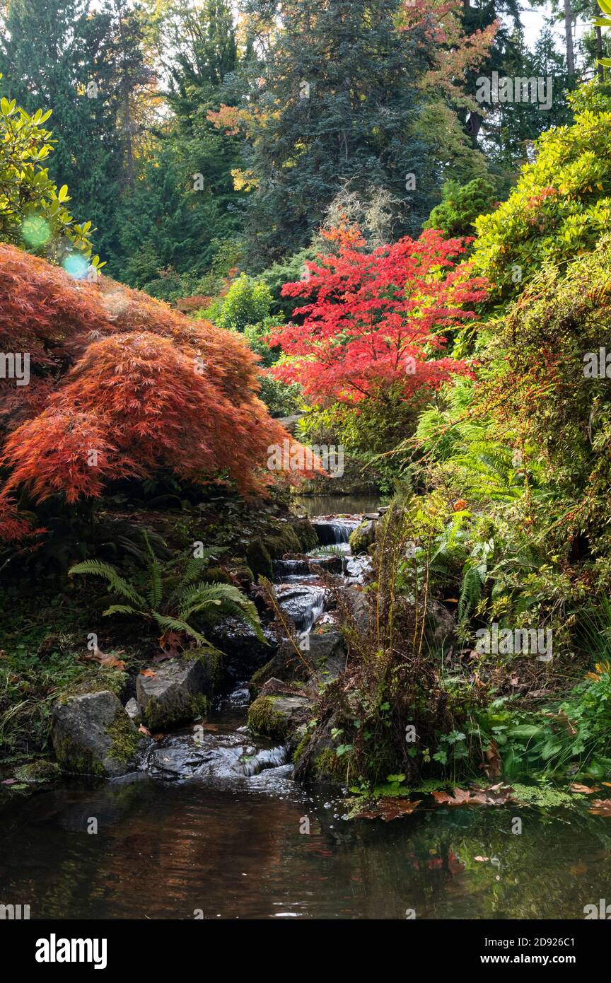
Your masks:
M 348 537 L 375 503 L 338 501 L 301 504 L 323 548 L 314 556 L 333 546 L 354 583 L 366 559 Z M 330 616 L 303 563 L 274 574 L 302 634 Z M 608 820 L 514 805 L 349 822 L 337 790 L 297 785 L 285 748 L 250 735 L 249 702 L 237 680 L 203 732 L 163 738 L 143 771 L 7 806 L 0 903 L 29 904 L 32 919 L 560 919 L 608 895 Z

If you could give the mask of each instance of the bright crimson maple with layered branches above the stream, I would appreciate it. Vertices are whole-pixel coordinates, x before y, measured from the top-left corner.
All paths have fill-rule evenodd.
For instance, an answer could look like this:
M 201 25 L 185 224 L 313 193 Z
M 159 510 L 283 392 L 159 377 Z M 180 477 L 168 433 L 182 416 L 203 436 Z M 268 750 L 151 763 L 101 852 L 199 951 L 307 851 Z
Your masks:
M 312 402 L 326 405 L 359 403 L 391 387 L 408 400 L 470 371 L 464 361 L 439 357 L 443 331 L 475 318 L 471 305 L 486 296 L 486 281 L 457 265 L 466 240 L 428 229 L 366 253 L 354 226 L 326 235 L 337 253 L 307 263 L 307 277 L 282 289 L 312 299 L 294 311 L 300 323 L 269 337 L 289 356 L 274 376 L 300 382 Z

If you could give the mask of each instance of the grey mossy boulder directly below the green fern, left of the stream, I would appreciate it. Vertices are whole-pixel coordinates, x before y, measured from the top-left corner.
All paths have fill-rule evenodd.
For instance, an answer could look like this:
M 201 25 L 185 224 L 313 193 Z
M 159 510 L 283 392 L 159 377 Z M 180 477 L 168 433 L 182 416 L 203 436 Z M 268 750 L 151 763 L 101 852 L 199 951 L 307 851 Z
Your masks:
M 201 660 L 172 659 L 151 665 L 149 671 L 136 679 L 139 708 L 149 730 L 169 730 L 206 713 L 210 672 Z

